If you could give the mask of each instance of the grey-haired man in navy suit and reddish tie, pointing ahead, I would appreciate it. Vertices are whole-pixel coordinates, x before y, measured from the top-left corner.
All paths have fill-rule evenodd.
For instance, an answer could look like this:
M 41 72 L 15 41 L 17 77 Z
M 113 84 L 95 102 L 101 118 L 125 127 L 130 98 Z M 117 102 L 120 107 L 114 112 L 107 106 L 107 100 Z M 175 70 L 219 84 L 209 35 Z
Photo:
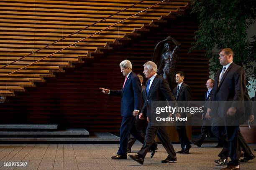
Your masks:
M 141 110 L 141 82 L 138 76 L 132 71 L 132 64 L 129 60 L 120 62 L 120 69 L 125 76 L 121 90 L 100 88 L 105 94 L 121 96 L 122 123 L 120 127 L 120 146 L 117 155 L 112 156 L 112 159 L 127 159 L 126 148 L 128 133 L 133 135 L 141 143 L 144 141 L 144 138 L 134 125 L 135 116 L 137 116 Z

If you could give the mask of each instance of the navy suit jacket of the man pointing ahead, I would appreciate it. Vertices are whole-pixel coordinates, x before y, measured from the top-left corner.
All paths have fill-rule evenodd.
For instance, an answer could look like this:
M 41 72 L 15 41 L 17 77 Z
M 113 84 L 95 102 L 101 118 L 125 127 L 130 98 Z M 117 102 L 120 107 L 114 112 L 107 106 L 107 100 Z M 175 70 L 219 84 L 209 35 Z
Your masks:
M 134 110 L 141 110 L 141 81 L 131 72 L 121 90 L 110 90 L 110 95 L 121 96 L 121 116 L 132 116 Z

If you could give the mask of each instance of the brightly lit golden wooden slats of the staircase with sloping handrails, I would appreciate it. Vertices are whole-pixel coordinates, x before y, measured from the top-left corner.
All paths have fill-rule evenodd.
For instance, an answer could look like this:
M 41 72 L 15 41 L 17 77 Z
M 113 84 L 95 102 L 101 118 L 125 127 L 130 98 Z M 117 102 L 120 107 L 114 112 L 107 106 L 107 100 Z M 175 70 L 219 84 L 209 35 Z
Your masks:
M 44 0 L 3 0 L 0 6 L 0 67 L 18 60 L 20 57 L 45 47 L 52 42 L 102 20 L 138 0 L 94 0 L 94 1 L 44 1 Z M 84 37 L 113 25 L 160 1 L 143 1 L 127 10 L 113 15 L 85 30 L 50 45 L 32 55 L 24 57 L 11 65 L 0 69 L 0 96 L 15 96 L 35 87 L 36 82 L 45 82 L 46 77 L 54 79 L 56 74 L 64 74 L 92 62 L 94 57 L 122 47 L 174 20 L 184 13 L 188 0 L 170 0 L 162 2 L 133 18 L 123 21 L 93 35 L 65 50 L 61 50 Z M 60 52 L 51 55 L 52 53 Z M 8 75 L 29 65 L 42 57 L 45 58 L 23 70 Z M 40 84 L 40 83 L 39 83 Z

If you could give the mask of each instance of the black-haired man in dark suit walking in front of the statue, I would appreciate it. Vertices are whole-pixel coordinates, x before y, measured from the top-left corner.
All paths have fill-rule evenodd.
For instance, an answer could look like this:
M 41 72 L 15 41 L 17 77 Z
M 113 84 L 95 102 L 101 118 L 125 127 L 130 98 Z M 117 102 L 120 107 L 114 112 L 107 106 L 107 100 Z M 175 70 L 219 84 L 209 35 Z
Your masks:
M 184 73 L 182 71 L 176 72 L 175 80 L 177 82 L 177 87 L 173 89 L 173 95 L 176 97 L 176 100 L 178 101 L 179 107 L 187 107 L 188 102 L 179 102 L 179 101 L 190 101 L 191 100 L 191 90 L 189 85 L 183 82 L 184 80 Z M 186 117 L 187 113 L 182 112 L 181 117 Z M 186 122 L 184 121 L 177 121 L 176 122 L 176 130 L 179 134 L 179 142 L 181 145 L 181 150 L 177 153 L 184 153 L 188 154 L 189 149 L 191 148 L 189 138 L 187 137 L 187 131 L 186 131 Z

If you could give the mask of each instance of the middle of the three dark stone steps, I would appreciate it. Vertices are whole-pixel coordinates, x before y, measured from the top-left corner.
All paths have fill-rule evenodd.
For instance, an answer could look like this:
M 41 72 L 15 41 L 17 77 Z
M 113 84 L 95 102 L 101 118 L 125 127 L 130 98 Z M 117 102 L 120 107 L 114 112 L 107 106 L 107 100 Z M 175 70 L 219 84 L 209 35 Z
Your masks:
M 89 135 L 84 128 L 58 131 L 0 131 L 0 135 Z

